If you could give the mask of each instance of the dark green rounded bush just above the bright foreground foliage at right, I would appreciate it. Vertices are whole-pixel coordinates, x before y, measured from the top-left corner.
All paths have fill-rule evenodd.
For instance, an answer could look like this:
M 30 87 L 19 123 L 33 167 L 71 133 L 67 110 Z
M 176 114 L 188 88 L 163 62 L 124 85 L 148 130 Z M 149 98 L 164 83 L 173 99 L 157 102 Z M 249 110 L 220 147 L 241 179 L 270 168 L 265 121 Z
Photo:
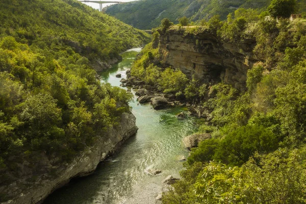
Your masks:
M 228 133 L 223 139 L 202 141 L 192 150 L 187 160 L 194 162 L 221 161 L 224 164 L 241 166 L 255 152 L 267 153 L 277 148 L 275 135 L 263 126 L 247 125 Z

